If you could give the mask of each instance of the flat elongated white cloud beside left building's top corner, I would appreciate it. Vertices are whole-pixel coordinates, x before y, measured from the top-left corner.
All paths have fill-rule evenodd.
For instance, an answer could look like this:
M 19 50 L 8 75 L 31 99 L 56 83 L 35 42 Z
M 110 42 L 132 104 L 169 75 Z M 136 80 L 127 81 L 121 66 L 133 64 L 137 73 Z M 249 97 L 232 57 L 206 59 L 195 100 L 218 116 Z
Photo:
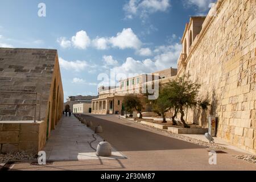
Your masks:
M 76 72 L 83 71 L 85 68 L 90 67 L 87 61 L 67 61 L 64 60 L 62 57 L 59 57 L 59 63 L 61 68 L 64 68 L 66 70 L 73 70 Z

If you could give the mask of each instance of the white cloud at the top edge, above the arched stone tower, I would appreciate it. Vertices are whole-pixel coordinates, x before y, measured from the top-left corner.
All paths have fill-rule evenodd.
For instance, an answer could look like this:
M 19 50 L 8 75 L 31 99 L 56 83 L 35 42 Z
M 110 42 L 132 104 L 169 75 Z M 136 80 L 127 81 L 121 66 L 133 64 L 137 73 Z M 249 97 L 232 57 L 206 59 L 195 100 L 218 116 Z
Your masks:
M 200 11 L 199 14 L 202 14 L 209 10 L 211 3 L 214 2 L 216 0 L 183 0 L 183 5 L 185 7 L 196 6 L 197 10 Z

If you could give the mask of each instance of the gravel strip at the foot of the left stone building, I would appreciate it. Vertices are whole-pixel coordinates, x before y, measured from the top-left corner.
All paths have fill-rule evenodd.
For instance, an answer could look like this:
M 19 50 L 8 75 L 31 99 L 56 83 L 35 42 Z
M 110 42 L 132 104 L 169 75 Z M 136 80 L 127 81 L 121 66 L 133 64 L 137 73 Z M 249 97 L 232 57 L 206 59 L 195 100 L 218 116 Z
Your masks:
M 10 152 L 7 154 L 0 154 L 0 163 L 6 163 L 9 161 L 25 161 L 25 160 L 35 160 L 36 156 L 32 154 L 26 154 L 25 152 Z

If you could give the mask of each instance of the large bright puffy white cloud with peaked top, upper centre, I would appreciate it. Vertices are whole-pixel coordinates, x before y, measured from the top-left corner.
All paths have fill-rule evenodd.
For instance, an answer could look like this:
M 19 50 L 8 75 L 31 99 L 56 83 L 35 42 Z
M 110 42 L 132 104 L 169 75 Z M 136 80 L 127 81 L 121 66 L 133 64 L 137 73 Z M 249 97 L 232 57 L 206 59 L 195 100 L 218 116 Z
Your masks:
M 113 47 L 120 49 L 134 48 L 138 49 L 141 47 L 141 40 L 138 39 L 137 35 L 134 34 L 131 28 L 123 28 L 122 32 L 118 32 L 117 36 L 109 39 L 109 42 Z

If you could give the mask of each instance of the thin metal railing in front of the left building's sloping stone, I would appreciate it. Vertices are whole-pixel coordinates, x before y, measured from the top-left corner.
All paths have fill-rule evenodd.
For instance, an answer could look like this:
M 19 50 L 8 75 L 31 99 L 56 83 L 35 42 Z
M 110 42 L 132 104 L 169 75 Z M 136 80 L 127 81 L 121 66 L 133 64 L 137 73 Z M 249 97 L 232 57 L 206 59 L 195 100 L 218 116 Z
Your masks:
M 0 93 L 22 93 L 22 94 L 35 94 L 36 104 L 15 104 L 15 103 L 0 103 L 0 105 L 25 105 L 25 106 L 35 106 L 34 113 L 34 123 L 36 123 L 36 107 L 39 106 L 39 120 L 41 118 L 41 98 L 42 95 L 37 92 L 14 92 L 14 91 L 0 91 Z M 39 104 L 38 104 L 38 96 L 40 96 Z

